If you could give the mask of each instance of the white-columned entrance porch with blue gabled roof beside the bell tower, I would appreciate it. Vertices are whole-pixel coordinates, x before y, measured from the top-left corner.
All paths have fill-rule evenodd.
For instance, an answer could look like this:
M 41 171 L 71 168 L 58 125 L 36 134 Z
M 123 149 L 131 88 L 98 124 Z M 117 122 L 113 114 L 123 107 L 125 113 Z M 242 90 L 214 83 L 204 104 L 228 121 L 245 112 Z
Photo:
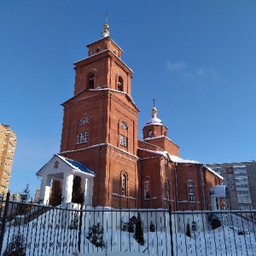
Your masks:
M 94 172 L 79 162 L 59 154 L 49 160 L 38 172 L 41 177 L 39 199 L 44 205 L 68 204 L 71 202 L 92 204 Z M 55 197 L 51 198 L 52 183 L 55 183 Z

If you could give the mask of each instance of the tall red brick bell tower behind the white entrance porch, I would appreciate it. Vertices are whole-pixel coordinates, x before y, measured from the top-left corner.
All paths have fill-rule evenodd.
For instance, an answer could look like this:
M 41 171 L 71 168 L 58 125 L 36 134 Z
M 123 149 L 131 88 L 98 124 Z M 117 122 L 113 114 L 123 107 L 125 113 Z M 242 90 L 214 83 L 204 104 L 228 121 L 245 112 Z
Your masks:
M 74 63 L 74 95 L 62 104 L 61 154 L 96 173 L 93 206 L 137 207 L 137 119 L 131 98 L 132 71 L 109 37 L 88 44 Z

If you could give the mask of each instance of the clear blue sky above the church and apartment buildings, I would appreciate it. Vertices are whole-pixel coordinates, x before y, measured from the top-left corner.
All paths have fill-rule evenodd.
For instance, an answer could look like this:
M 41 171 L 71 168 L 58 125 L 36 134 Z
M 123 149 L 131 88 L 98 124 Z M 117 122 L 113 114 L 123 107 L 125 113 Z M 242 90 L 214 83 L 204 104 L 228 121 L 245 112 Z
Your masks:
M 61 103 L 73 96 L 73 62 L 110 37 L 134 71 L 139 135 L 155 98 L 184 159 L 256 160 L 255 1 L 1 1 L 0 123 L 17 148 L 9 189 L 30 184 L 60 150 Z

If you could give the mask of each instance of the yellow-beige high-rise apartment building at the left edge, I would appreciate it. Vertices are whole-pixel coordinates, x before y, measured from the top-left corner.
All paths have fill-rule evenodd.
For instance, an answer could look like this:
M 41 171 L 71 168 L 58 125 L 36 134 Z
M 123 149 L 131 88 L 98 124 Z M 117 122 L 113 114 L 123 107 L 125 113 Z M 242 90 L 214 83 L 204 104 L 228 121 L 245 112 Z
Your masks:
M 0 124 L 0 195 L 7 194 L 17 137 L 9 125 Z

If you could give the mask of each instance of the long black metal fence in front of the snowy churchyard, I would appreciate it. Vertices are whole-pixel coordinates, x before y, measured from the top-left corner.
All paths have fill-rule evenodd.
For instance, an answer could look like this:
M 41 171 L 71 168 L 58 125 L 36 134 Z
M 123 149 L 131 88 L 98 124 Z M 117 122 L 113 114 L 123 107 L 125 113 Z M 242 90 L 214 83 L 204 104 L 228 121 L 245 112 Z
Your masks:
M 256 255 L 255 213 L 48 207 L 7 199 L 0 201 L 0 254 Z

